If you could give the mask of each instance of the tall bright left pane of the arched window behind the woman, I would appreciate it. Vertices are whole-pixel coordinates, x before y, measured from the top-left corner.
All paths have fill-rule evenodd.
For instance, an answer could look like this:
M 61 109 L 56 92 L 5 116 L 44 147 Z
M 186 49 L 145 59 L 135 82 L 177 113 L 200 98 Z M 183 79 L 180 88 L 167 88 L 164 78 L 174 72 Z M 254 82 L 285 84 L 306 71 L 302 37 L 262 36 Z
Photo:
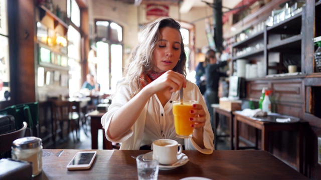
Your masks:
M 98 41 L 97 46 L 97 82 L 100 83 L 100 92 L 109 91 L 109 44 Z

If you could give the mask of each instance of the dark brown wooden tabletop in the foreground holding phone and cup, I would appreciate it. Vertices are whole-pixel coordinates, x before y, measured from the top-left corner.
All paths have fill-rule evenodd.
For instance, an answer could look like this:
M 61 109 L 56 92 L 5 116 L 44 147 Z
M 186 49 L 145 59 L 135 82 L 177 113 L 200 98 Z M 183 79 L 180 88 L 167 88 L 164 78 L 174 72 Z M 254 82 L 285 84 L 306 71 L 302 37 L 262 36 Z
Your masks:
M 69 171 L 76 149 L 44 149 L 43 171 L 34 179 L 137 179 L 137 156 L 149 150 L 97 150 L 89 170 Z M 158 179 L 201 176 L 211 179 L 308 179 L 264 150 L 214 150 L 203 154 L 183 150 L 190 161 L 172 170 L 159 170 Z

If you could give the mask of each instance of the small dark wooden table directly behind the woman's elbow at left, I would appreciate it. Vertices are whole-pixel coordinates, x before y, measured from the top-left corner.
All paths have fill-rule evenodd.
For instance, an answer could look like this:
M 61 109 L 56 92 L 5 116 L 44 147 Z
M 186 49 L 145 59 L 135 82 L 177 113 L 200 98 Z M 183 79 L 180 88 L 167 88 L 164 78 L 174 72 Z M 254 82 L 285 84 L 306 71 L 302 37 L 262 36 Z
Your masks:
M 90 129 L 91 129 L 91 149 L 98 149 L 98 130 L 102 129 L 103 131 L 103 149 L 112 149 L 112 143 L 107 140 L 105 136 L 105 129 L 101 125 L 101 117 L 106 112 L 99 112 L 94 110 L 88 113 L 90 116 Z

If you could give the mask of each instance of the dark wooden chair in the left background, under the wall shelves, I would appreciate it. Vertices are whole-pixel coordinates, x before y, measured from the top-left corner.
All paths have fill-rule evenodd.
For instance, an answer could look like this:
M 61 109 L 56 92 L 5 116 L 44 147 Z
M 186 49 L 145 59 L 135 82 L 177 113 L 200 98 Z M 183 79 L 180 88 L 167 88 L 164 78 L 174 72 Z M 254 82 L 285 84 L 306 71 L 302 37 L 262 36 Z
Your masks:
M 56 142 L 57 130 L 60 130 L 60 136 L 62 139 L 64 138 L 63 131 L 65 129 L 65 122 L 67 122 L 67 135 L 69 134 L 69 130 L 71 130 L 74 141 L 79 139 L 79 104 L 77 102 L 59 99 L 52 100 L 52 114 L 52 135 L 54 143 Z M 57 123 L 60 124 L 60 129 L 57 128 Z M 74 130 L 76 131 L 76 138 Z

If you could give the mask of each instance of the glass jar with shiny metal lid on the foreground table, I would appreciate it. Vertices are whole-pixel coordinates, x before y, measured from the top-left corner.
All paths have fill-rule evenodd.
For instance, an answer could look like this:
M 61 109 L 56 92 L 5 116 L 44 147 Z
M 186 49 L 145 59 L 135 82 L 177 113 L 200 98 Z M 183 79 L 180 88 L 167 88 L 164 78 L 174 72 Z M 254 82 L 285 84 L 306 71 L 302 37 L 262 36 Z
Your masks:
M 42 171 L 42 141 L 39 137 L 29 136 L 16 139 L 11 147 L 13 159 L 32 162 L 32 176 Z

